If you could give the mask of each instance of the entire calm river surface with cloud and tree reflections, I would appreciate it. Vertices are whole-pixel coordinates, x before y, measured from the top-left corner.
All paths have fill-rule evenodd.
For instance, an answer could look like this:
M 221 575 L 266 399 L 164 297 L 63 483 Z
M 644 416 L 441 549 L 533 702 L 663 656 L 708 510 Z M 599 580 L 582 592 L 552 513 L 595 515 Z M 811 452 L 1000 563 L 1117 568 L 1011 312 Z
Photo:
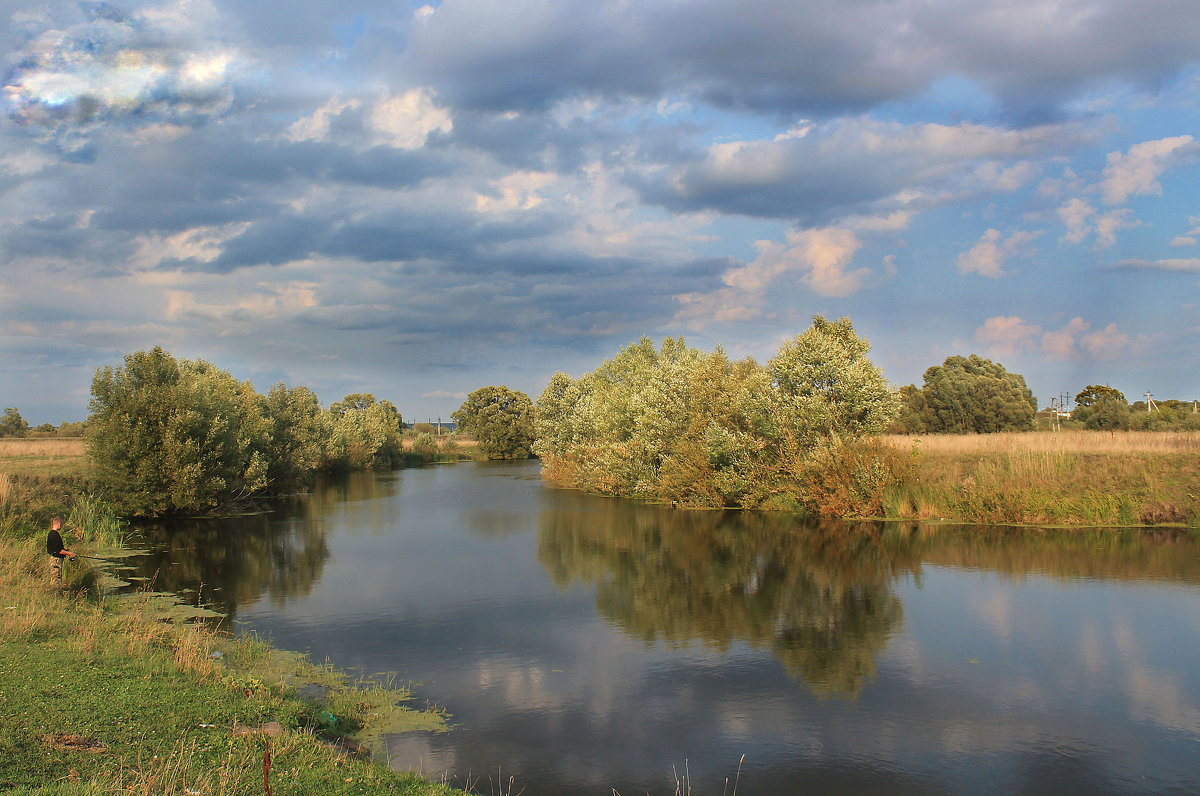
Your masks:
M 484 794 L 715 795 L 743 755 L 743 796 L 1200 792 L 1186 537 L 671 511 L 527 462 L 148 538 L 236 628 L 416 683 L 457 726 L 394 767 Z

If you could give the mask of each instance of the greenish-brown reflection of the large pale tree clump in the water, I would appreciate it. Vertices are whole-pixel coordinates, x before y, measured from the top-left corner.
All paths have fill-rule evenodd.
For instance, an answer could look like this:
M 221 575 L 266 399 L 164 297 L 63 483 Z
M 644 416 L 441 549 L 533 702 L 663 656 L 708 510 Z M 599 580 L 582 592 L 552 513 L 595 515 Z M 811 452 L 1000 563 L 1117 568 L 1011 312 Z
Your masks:
M 544 514 L 538 556 L 559 586 L 593 583 L 599 611 L 647 642 L 769 648 L 816 694 L 853 696 L 902 623 L 890 585 L 919 561 L 889 535 L 613 502 Z

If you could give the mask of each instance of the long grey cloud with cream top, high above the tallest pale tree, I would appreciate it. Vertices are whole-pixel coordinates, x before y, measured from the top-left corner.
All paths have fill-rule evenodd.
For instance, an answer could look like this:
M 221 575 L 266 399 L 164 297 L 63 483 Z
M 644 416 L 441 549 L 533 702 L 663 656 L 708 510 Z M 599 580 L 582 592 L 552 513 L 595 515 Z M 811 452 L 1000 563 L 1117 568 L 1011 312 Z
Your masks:
M 884 122 L 846 118 L 804 134 L 722 142 L 670 172 L 635 180 L 646 201 L 808 226 L 1015 190 L 1037 174 L 1025 161 L 1070 146 L 1061 126 Z M 1008 164 L 1006 164 L 1008 163 Z

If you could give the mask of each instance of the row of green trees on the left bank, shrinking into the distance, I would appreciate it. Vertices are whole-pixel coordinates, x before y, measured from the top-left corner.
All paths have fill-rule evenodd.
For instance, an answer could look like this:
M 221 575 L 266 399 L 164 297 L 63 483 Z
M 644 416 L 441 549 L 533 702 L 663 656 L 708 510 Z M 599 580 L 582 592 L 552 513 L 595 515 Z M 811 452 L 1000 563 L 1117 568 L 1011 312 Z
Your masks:
M 318 472 L 432 459 L 428 435 L 403 444 L 390 401 L 347 395 L 328 409 L 306 387 L 266 395 L 204 360 L 162 348 L 96 371 L 86 441 L 94 474 L 125 514 L 203 513 L 294 491 Z

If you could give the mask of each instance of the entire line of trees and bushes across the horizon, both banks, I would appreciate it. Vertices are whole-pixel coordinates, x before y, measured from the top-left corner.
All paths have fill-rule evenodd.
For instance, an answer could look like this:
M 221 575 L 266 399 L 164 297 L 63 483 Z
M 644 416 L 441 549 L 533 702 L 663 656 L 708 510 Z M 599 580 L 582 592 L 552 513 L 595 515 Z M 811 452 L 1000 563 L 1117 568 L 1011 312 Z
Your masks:
M 766 364 L 643 337 L 580 378 L 556 373 L 536 403 L 485 387 L 451 417 L 479 455 L 536 455 L 544 477 L 563 486 L 822 514 L 871 513 L 886 489 L 912 475 L 912 456 L 881 444 L 881 432 L 1034 427 L 1037 401 L 1025 378 L 998 363 L 949 357 L 925 371 L 920 388 L 895 389 L 869 351 L 847 318 L 821 316 Z M 325 409 L 308 388 L 280 383 L 260 395 L 161 347 L 97 370 L 91 394 L 94 474 L 126 514 L 202 513 L 295 491 L 316 473 L 388 468 L 439 451 L 430 433 L 406 447 L 400 411 L 370 393 Z M 1075 401 L 1069 423 L 1079 427 L 1200 429 L 1190 403 L 1139 412 L 1099 385 Z M 0 429 L 25 433 L 28 424 L 10 408 Z

